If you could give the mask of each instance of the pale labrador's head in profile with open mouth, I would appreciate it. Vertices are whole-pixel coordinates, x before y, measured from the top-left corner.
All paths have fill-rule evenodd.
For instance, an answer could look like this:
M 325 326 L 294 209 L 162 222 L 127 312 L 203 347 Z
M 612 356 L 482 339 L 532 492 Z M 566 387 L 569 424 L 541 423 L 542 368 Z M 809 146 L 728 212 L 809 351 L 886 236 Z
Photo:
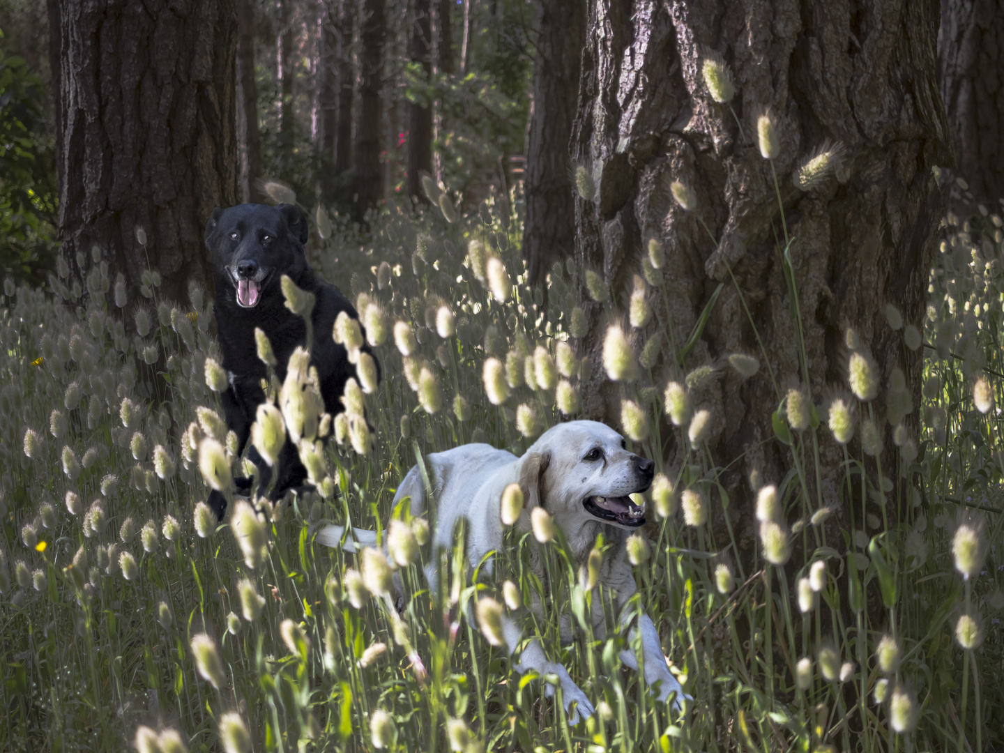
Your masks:
M 629 495 L 652 485 L 655 464 L 626 449 L 623 437 L 595 421 L 558 424 L 522 458 L 520 486 L 528 508 L 541 505 L 570 537 L 583 527 L 645 524 Z

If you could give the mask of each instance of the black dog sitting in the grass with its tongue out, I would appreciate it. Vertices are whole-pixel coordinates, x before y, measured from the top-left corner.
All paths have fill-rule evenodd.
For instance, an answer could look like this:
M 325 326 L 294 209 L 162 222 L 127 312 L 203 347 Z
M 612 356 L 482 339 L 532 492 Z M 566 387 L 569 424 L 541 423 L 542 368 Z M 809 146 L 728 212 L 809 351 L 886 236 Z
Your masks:
M 272 343 L 280 383 L 286 378 L 286 364 L 293 349 L 306 344 L 303 319 L 285 306 L 280 287 L 282 275 L 289 275 L 299 288 L 310 291 L 316 298 L 311 315 L 314 341 L 310 364 L 317 367 L 324 408 L 332 416 L 341 411 L 345 382 L 355 374 L 347 351 L 334 342 L 331 330 L 339 312 L 345 311 L 355 319 L 358 314 L 338 288 L 322 280 L 307 264 L 303 253 L 306 240 L 306 218 L 291 204 L 217 208 L 206 224 L 206 247 L 213 262 L 216 285 L 213 313 L 223 350 L 223 367 L 230 383 L 221 394 L 221 402 L 227 428 L 237 435 L 239 453 L 247 443 L 258 406 L 265 402 L 260 383 L 268 378 L 268 372 L 258 358 L 255 327 L 264 330 Z M 362 349 L 369 352 L 367 345 Z M 271 468 L 254 447 L 248 458 L 261 471 L 259 478 L 267 483 Z M 273 500 L 289 489 L 302 486 L 307 475 L 296 447 L 288 439 L 276 462 L 276 483 L 269 495 Z M 239 489 L 247 489 L 251 481 L 237 479 L 235 483 Z M 212 492 L 207 504 L 222 519 L 227 506 L 224 495 Z

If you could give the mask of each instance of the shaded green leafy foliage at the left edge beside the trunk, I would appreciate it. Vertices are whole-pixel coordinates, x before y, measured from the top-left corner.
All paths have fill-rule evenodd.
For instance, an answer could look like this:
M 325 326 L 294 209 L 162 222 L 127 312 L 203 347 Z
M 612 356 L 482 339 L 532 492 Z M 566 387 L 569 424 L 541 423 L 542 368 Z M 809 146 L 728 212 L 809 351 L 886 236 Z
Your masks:
M 55 258 L 56 188 L 47 92 L 0 47 L 0 267 L 38 283 Z

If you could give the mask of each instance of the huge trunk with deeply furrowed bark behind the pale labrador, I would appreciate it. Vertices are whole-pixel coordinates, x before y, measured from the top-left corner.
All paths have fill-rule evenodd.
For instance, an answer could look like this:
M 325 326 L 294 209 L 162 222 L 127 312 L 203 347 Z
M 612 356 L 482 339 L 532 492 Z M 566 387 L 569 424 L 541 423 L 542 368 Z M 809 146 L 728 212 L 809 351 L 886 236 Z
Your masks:
M 575 202 L 575 261 L 589 322 L 580 348 L 595 364 L 583 386 L 584 412 L 619 425 L 622 389 L 599 365 L 607 319 L 601 306 L 584 301 L 584 273 L 598 271 L 624 310 L 633 278 L 643 273 L 647 242 L 656 238 L 666 263 L 658 272 L 649 270 L 658 278 L 649 288 L 654 316 L 632 338 L 640 350 L 656 332 L 663 334 L 653 369 L 659 395 L 671 378 L 682 379 L 702 364 L 717 367 L 716 378 L 693 399 L 696 408 L 711 412 L 712 457 L 722 465 L 736 461 L 721 480 L 731 495 L 727 514 L 745 559 L 756 544 L 747 474 L 757 469 L 768 483 L 780 483 L 791 467 L 789 448 L 773 439 L 770 416 L 803 374 L 781 263 L 778 199 L 771 164 L 755 142 L 756 116 L 769 108 L 780 134 L 774 167 L 794 239 L 790 256 L 812 399 L 821 404 L 830 386 L 846 389 L 843 342 L 849 325 L 877 361 L 881 388 L 873 408 L 885 413 L 897 365 L 906 371 L 916 407 L 922 353 L 904 347 L 884 311 L 894 303 L 907 322 L 922 319 L 941 204 L 931 168 L 951 160 L 937 79 L 937 0 L 588 5 L 571 147 L 572 159 L 595 179 L 595 199 Z M 702 77 L 703 59 L 716 52 L 735 74 L 730 104 L 714 101 Z M 845 150 L 841 168 L 803 193 L 792 183 L 793 171 L 827 140 Z M 674 202 L 674 181 L 696 192 L 694 211 Z M 719 283 L 724 285 L 703 335 L 681 367 L 676 353 Z M 736 351 L 757 356 L 759 372 L 744 381 L 729 368 L 725 356 Z M 913 419 L 916 436 L 916 411 Z M 668 424 L 661 430 L 669 438 L 664 458 L 679 468 L 686 440 Z M 883 468 L 895 477 L 891 429 L 885 434 Z M 813 506 L 817 499 L 838 506 L 843 454 L 824 428 L 818 435 L 822 483 L 806 496 Z M 712 499 L 713 534 L 728 541 L 726 513 Z M 892 520 L 895 499 L 889 495 Z M 831 523 L 848 512 L 845 506 Z M 847 522 L 843 517 L 839 524 Z

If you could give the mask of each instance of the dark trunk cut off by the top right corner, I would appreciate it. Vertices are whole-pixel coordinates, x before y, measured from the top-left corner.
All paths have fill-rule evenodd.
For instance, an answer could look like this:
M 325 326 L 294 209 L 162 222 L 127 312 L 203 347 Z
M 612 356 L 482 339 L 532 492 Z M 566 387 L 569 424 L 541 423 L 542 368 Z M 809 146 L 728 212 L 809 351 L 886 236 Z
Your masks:
M 1004 2 L 942 0 L 942 97 L 956 154 L 956 175 L 974 201 L 1004 197 Z

